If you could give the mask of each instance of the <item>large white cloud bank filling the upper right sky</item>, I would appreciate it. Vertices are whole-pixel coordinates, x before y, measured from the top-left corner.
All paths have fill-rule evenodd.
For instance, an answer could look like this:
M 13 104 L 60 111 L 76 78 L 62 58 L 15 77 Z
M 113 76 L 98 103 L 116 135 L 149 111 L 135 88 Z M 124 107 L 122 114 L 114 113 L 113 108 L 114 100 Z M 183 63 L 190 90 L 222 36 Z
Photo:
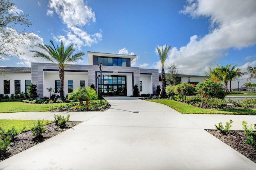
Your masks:
M 180 13 L 210 18 L 211 30 L 204 36 L 192 35 L 190 42 L 180 49 L 173 47 L 165 69 L 175 63 L 182 74 L 204 74 L 208 67 L 226 57 L 228 49 L 239 50 L 256 43 L 254 0 L 187 0 Z M 160 61 L 154 67 L 161 69 Z

